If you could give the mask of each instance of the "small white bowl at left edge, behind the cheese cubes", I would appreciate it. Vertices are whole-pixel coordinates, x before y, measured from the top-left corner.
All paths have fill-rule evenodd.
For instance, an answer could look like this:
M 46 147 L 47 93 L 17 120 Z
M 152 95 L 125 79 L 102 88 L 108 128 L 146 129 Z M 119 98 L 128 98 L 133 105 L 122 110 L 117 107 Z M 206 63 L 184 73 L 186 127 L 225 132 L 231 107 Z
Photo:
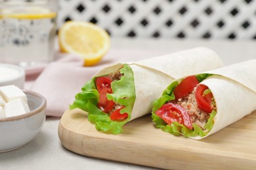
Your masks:
M 17 65 L 0 63 L 0 86 L 15 85 L 23 89 L 25 71 Z

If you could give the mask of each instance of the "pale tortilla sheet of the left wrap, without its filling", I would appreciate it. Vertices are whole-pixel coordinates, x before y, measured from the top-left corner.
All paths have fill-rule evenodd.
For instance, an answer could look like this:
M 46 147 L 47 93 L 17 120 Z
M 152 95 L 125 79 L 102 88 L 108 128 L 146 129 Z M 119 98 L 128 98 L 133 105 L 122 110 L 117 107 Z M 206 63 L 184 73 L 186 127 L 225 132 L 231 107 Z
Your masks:
M 129 84 L 135 86 L 135 101 L 130 116 L 125 120 L 125 123 L 150 113 L 153 102 L 160 97 L 161 92 L 175 78 L 221 67 L 223 61 L 212 50 L 200 47 L 127 64 L 133 72 L 134 82 L 129 82 Z M 106 67 L 98 71 L 93 77 L 116 72 L 123 65 L 123 63 L 117 63 Z M 79 100 L 79 97 L 76 97 L 76 99 Z M 74 109 L 75 107 L 83 108 L 79 105 L 73 105 L 71 108 Z M 89 114 L 93 113 L 89 112 Z M 95 123 L 95 121 L 91 122 Z M 111 127 L 101 129 L 98 124 L 95 124 L 95 126 L 98 130 L 111 131 Z M 121 127 L 114 133 L 121 133 Z

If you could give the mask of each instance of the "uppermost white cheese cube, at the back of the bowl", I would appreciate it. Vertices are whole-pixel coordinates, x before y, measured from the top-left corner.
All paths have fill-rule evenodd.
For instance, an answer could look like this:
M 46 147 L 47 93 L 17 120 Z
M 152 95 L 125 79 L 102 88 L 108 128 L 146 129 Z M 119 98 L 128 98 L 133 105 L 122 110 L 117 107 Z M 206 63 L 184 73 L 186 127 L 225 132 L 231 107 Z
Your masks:
M 0 95 L 5 99 L 6 103 L 15 99 L 22 99 L 24 102 L 28 103 L 26 94 L 14 85 L 0 87 Z

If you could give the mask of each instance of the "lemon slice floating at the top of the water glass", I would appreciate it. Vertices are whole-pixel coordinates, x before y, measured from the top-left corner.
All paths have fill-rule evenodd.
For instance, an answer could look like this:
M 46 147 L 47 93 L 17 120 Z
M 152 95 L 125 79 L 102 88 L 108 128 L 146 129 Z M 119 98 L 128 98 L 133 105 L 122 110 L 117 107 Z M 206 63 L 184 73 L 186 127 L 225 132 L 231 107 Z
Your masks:
M 22 7 L 3 9 L 2 15 L 5 18 L 16 18 L 16 19 L 43 19 L 43 18 L 54 18 L 56 12 L 52 12 L 49 9 L 43 7 Z

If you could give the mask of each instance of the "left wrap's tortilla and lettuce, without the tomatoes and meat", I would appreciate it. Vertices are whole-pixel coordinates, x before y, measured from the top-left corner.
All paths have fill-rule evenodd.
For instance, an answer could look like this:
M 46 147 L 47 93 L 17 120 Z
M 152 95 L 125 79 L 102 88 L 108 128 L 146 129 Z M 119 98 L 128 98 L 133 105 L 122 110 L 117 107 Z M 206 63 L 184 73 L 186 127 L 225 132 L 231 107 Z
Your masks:
M 203 47 L 137 62 L 118 63 L 96 73 L 83 86 L 82 92 L 75 95 L 75 101 L 70 105 L 70 109 L 79 108 L 87 111 L 89 121 L 94 123 L 99 131 L 119 134 L 124 124 L 151 112 L 153 102 L 160 97 L 169 82 L 189 73 L 221 66 L 223 66 L 221 58 L 212 50 Z M 108 94 L 107 97 L 117 105 L 125 106 L 121 114 L 127 112 L 128 118 L 121 122 L 110 120 L 108 114 L 96 107 L 98 93 L 94 82 L 96 77 L 109 75 L 118 70 L 124 76 L 121 80 L 112 82 L 113 93 Z

